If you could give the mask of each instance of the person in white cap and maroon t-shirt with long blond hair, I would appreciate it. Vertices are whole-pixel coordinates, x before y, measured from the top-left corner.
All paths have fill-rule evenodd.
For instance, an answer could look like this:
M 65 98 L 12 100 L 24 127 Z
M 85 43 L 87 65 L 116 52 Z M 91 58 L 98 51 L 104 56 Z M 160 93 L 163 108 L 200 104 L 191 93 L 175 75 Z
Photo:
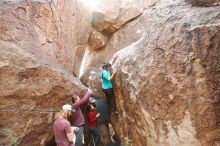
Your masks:
M 71 127 L 67 118 L 71 115 L 72 106 L 65 104 L 62 110 L 56 115 L 56 120 L 53 124 L 56 144 L 59 146 L 74 146 L 75 134 L 77 127 Z

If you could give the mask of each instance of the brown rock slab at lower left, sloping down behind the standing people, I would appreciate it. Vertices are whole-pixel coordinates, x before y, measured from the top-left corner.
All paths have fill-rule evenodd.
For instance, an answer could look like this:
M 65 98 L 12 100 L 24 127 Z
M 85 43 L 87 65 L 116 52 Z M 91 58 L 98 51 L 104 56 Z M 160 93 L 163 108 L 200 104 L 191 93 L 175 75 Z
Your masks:
M 20 145 L 45 145 L 53 136 L 54 113 L 70 102 L 65 96 L 81 95 L 86 88 L 12 43 L 0 41 L 0 54 L 1 132 L 9 128 L 21 136 Z M 24 130 L 30 119 L 31 127 Z M 0 145 L 10 143 L 3 133 L 0 137 Z

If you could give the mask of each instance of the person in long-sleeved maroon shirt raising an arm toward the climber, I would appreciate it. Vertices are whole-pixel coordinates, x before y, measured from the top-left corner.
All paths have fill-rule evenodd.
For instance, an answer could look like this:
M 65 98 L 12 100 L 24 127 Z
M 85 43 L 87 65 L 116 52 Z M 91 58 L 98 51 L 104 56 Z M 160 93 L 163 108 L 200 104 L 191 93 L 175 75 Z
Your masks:
M 83 117 L 81 107 L 89 101 L 89 97 L 92 93 L 91 89 L 88 89 L 87 93 L 82 99 L 79 96 L 72 96 L 72 116 L 71 125 L 78 127 L 79 130 L 76 132 L 76 146 L 82 146 L 84 144 L 84 125 L 85 119 Z

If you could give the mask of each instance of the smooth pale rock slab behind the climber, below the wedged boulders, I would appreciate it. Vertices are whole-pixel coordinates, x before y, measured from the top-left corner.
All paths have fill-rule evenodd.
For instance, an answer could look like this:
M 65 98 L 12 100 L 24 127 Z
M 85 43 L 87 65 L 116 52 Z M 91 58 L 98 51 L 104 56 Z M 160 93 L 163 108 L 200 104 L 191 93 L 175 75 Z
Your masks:
M 115 52 L 133 44 L 140 39 L 144 33 L 144 28 L 146 27 L 144 24 L 145 21 L 145 17 L 141 17 L 140 19 L 134 19 L 133 21 L 129 22 L 129 25 L 125 24 L 110 37 L 103 48 L 91 50 L 89 49 L 89 46 L 84 54 L 80 76 L 89 67 L 101 67 L 103 62 L 111 60 Z M 93 43 L 95 43 L 94 41 Z

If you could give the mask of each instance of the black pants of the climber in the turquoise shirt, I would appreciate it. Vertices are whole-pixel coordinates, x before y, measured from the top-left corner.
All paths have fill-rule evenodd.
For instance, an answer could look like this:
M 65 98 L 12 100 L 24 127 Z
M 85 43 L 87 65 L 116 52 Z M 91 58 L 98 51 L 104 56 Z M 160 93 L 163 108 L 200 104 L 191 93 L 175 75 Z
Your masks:
M 103 89 L 105 96 L 107 98 L 108 109 L 111 109 L 111 113 L 115 113 L 116 104 L 115 104 L 115 95 L 113 89 Z

